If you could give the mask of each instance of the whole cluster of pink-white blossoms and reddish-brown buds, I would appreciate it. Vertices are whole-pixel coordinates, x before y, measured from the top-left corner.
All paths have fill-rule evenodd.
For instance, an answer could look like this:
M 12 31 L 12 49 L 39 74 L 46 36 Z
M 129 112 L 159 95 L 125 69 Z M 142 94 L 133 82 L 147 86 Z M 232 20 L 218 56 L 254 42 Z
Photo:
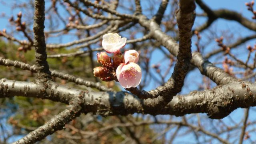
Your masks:
M 106 52 L 97 53 L 97 62 L 102 66 L 94 68 L 94 76 L 103 81 L 116 80 L 124 88 L 136 87 L 140 84 L 142 72 L 139 61 L 139 53 L 136 50 L 128 50 L 122 54 L 120 49 L 126 44 L 126 38 L 118 34 L 108 33 L 103 36 L 102 47 L 107 53 L 113 53 L 112 58 Z

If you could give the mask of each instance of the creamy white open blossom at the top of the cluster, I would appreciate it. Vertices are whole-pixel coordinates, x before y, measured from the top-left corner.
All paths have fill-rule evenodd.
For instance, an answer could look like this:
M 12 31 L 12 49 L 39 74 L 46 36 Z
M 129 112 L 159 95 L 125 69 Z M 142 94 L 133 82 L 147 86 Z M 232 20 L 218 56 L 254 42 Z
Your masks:
M 116 53 L 126 44 L 126 38 L 121 38 L 117 33 L 104 34 L 102 47 L 108 53 Z

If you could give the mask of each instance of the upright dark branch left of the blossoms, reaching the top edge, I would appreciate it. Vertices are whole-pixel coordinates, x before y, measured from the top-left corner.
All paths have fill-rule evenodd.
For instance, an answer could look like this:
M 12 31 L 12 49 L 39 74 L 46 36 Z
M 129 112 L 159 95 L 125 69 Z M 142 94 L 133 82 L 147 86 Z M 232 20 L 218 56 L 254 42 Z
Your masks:
M 46 60 L 47 54 L 44 40 L 44 0 L 35 0 L 33 30 L 38 79 L 41 80 L 41 82 L 46 82 L 51 79 L 51 72 Z

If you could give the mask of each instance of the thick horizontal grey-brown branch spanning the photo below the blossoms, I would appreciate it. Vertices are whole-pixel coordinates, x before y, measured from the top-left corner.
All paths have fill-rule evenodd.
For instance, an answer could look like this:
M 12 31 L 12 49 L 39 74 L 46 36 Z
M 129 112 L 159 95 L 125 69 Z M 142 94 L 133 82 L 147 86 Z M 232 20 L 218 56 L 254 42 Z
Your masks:
M 158 104 L 161 97 L 140 100 L 126 92 L 84 92 L 75 88 L 60 86 L 50 82 L 44 86 L 33 82 L 0 80 L 0 98 L 26 96 L 49 99 L 69 104 L 74 98 L 82 96 L 79 102 L 86 112 L 110 115 L 134 113 L 170 114 L 184 116 L 192 113 L 207 113 L 210 118 L 224 118 L 236 108 L 256 106 L 256 84 L 233 82 L 216 86 L 211 90 L 177 95 L 162 108 Z

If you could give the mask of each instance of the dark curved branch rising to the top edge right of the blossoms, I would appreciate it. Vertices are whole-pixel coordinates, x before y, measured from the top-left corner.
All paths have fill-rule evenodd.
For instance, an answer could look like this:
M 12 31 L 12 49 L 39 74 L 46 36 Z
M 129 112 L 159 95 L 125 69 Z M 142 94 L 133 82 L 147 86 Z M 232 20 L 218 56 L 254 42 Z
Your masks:
M 150 90 L 149 92 L 140 91 L 137 88 L 127 88 L 133 94 L 136 94 L 139 98 L 159 98 L 163 101 L 164 104 L 167 104 L 172 100 L 172 97 L 175 96 L 178 92 L 181 91 L 184 84 L 184 79 L 186 73 L 188 72 L 190 59 L 191 59 L 191 37 L 192 31 L 191 28 L 194 24 L 195 19 L 195 10 L 196 5 L 194 0 L 184 1 L 180 0 L 180 10 L 178 10 L 177 21 L 180 34 L 180 43 L 178 48 L 177 62 L 174 66 L 174 72 L 172 76 L 164 84 L 164 86 L 159 86 L 155 90 Z M 162 102 L 158 102 L 164 106 Z

